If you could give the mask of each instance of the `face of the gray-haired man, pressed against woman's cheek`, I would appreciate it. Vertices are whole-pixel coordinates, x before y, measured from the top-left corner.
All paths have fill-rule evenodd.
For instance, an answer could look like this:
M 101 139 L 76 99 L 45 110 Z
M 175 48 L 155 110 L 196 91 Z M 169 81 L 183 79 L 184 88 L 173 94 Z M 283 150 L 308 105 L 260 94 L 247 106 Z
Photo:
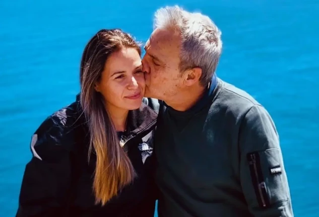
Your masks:
M 179 52 L 180 36 L 172 31 L 156 29 L 145 45 L 142 60 L 145 72 L 145 96 L 169 100 L 182 85 Z

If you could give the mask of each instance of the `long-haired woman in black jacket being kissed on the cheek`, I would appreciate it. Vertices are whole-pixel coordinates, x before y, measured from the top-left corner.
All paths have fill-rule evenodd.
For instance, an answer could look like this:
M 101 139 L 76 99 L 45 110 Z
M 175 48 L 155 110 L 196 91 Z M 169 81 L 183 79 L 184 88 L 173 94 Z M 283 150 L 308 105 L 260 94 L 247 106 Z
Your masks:
M 99 31 L 80 83 L 76 101 L 32 137 L 17 216 L 154 216 L 147 140 L 157 114 L 142 103 L 139 45 L 118 29 Z

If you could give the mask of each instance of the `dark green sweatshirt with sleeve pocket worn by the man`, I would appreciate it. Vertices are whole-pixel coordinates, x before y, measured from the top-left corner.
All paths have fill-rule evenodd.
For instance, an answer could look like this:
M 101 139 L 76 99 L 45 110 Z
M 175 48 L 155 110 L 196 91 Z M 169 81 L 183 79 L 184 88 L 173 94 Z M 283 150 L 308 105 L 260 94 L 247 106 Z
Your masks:
M 186 112 L 160 108 L 158 215 L 293 216 L 279 137 L 265 108 L 220 79 L 200 104 Z

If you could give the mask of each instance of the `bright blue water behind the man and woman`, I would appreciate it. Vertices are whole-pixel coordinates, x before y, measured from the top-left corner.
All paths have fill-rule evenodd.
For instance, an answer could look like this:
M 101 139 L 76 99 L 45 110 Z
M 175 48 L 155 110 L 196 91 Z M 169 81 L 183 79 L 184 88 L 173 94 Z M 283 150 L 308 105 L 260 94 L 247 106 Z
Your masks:
M 14 216 L 30 138 L 75 99 L 89 38 L 122 28 L 146 41 L 178 4 L 222 30 L 218 75 L 256 97 L 278 128 L 295 216 L 319 216 L 319 1 L 0 1 L 0 216 Z

